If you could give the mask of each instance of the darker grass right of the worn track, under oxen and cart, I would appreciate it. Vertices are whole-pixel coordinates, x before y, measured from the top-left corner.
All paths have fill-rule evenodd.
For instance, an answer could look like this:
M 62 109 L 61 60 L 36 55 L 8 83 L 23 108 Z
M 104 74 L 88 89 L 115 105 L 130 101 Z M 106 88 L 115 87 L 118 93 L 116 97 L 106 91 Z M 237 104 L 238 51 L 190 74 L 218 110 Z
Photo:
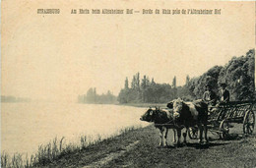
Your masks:
M 209 134 L 210 144 L 200 145 L 189 140 L 186 146 L 176 147 L 169 132 L 168 147 L 158 146 L 159 133 L 149 128 L 147 139 L 140 140 L 129 152 L 108 162 L 105 167 L 255 167 L 256 139 L 235 135 L 230 140 L 219 140 Z

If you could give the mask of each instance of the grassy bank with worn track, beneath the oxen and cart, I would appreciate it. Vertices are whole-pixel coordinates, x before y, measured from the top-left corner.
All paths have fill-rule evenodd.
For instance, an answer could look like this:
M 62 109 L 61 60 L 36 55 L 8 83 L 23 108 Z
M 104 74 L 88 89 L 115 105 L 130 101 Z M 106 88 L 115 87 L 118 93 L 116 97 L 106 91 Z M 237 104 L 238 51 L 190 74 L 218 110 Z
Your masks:
M 189 140 L 186 146 L 160 148 L 159 131 L 150 126 L 62 156 L 46 167 L 256 167 L 256 138 L 239 135 L 219 140 L 209 134 L 210 144 Z

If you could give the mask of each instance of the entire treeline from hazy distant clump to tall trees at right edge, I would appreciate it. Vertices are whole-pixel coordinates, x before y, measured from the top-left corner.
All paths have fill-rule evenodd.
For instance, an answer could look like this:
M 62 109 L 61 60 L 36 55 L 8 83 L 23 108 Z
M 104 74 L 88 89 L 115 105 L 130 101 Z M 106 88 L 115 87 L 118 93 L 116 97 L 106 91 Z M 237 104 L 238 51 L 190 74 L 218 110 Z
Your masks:
M 176 77 L 171 84 L 158 84 L 154 78 L 140 73 L 133 76 L 131 83 L 125 79 L 124 87 L 117 97 L 110 91 L 106 94 L 96 94 L 96 88 L 90 88 L 85 95 L 79 95 L 81 103 L 166 103 L 169 100 L 181 97 L 186 101 L 200 99 L 205 91 L 205 85 L 211 84 L 214 91 L 218 92 L 220 84 L 227 84 L 230 100 L 255 99 L 255 50 L 249 50 L 246 55 L 232 57 L 227 64 L 215 66 L 202 76 L 190 79 L 186 77 L 186 84 L 176 85 Z

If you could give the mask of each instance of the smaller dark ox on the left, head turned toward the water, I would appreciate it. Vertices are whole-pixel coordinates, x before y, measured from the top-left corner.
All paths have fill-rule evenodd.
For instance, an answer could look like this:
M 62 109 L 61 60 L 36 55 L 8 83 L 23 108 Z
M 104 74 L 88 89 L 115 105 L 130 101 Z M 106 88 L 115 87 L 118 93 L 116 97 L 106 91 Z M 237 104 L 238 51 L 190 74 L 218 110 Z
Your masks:
M 176 130 L 173 124 L 172 111 L 156 108 L 148 109 L 144 115 L 140 118 L 142 121 L 154 122 L 155 127 L 160 129 L 160 146 L 166 146 L 166 139 L 168 129 L 173 130 L 173 141 L 176 141 Z

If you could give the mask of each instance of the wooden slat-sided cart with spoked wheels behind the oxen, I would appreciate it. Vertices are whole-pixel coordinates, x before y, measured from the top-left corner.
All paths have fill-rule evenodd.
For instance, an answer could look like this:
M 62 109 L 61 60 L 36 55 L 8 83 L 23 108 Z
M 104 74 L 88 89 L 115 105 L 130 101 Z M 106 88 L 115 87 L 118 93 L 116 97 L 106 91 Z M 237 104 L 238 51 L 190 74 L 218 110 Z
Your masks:
M 231 123 L 242 124 L 243 134 L 252 135 L 255 125 L 254 101 L 232 101 L 209 107 L 208 130 L 225 139 L 229 134 Z M 189 128 L 190 139 L 197 139 L 198 128 Z

